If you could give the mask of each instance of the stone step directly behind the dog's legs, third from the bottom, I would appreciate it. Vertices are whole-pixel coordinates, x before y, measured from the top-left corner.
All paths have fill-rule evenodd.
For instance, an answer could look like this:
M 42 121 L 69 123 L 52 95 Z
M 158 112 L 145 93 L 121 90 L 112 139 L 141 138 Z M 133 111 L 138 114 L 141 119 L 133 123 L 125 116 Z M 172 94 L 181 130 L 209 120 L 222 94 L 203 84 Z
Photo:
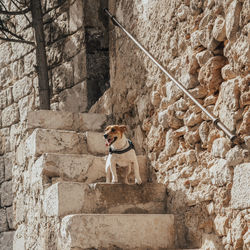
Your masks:
M 142 181 L 148 181 L 148 167 L 146 156 L 137 156 L 140 166 Z M 43 173 L 52 179 L 52 182 L 77 181 L 85 183 L 105 182 L 106 157 L 90 154 L 43 154 L 37 164 L 43 169 Z M 118 172 L 118 180 L 121 179 Z M 129 176 L 130 183 L 134 182 L 133 171 Z

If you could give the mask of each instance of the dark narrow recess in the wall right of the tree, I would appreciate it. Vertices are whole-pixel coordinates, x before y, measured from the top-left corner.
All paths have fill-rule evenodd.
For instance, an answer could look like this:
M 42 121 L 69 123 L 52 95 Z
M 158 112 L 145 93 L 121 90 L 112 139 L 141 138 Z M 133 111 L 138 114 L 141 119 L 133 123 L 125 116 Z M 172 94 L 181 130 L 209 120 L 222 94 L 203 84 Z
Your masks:
M 103 12 L 106 7 L 108 0 L 87 1 L 85 7 L 88 109 L 110 86 L 108 17 Z

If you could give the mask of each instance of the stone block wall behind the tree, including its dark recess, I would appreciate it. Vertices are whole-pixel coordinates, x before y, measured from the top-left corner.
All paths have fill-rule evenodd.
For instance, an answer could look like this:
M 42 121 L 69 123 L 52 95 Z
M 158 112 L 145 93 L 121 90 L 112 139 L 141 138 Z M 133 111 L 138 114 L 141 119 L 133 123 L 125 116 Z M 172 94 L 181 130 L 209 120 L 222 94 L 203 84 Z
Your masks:
M 5 2 L 15 10 L 11 1 Z M 106 4 L 106 0 L 42 1 L 52 110 L 86 112 L 109 86 L 107 18 L 100 11 Z M 31 15 L 27 16 L 31 20 Z M 24 16 L 12 21 L 18 34 L 34 40 Z M 100 81 L 93 76 L 93 68 Z M 90 92 L 93 85 L 97 86 L 94 93 Z M 39 109 L 38 96 L 34 47 L 0 40 L 0 248 L 4 249 L 12 247 L 17 228 L 16 223 L 13 225 L 12 200 L 17 195 L 16 185 L 22 185 L 14 183 L 12 190 L 15 154 L 22 148 L 28 111 Z M 17 168 L 14 177 L 22 176 L 22 171 Z

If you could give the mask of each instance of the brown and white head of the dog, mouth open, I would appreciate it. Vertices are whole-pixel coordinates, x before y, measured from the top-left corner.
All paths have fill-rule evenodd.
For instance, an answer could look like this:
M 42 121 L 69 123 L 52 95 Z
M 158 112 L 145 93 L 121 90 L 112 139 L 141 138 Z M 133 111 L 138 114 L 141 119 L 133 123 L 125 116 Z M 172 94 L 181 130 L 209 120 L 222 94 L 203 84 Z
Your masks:
M 106 146 L 111 146 L 116 140 L 122 138 L 123 133 L 127 130 L 125 125 L 110 125 L 107 126 L 104 133 Z

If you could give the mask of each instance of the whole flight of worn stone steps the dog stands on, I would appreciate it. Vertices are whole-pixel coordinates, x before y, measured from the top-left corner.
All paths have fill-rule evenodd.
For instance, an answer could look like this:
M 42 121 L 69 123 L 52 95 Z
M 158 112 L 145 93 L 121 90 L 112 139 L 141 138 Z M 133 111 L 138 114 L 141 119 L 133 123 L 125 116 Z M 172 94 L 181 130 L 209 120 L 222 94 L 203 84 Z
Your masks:
M 60 221 L 57 249 L 173 249 L 166 188 L 147 182 L 145 156 L 138 156 L 142 185 L 105 183 L 105 125 L 101 114 L 28 115 L 26 152 L 46 183 L 43 211 Z

